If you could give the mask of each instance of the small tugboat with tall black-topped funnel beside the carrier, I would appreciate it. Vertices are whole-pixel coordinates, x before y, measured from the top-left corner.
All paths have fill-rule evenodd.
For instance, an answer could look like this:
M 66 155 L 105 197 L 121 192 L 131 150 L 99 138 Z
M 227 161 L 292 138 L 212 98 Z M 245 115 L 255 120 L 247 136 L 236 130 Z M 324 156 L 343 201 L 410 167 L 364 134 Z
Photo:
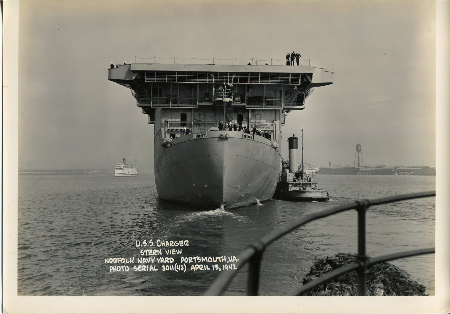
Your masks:
M 303 130 L 302 130 L 302 163 L 298 161 L 298 137 L 288 138 L 289 161 L 281 161 L 279 176 L 274 198 L 285 201 L 324 202 L 329 200 L 329 194 L 317 188 L 319 183 L 317 170 L 314 166 L 303 162 Z

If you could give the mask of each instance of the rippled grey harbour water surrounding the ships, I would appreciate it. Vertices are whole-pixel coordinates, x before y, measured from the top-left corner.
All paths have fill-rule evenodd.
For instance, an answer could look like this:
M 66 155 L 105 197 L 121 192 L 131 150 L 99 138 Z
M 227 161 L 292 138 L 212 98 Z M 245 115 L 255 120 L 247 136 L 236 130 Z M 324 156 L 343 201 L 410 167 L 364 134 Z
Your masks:
M 50 175 L 18 178 L 19 295 L 202 295 L 217 270 L 135 272 L 136 240 L 188 240 L 188 256 L 237 256 L 247 245 L 302 216 L 354 201 L 435 189 L 434 176 L 320 175 L 328 202 L 271 200 L 229 211 L 204 210 L 158 199 L 153 175 Z M 435 245 L 435 200 L 371 207 L 367 255 Z M 298 287 L 316 258 L 357 252 L 356 211 L 311 222 L 266 249 L 262 295 Z M 139 242 L 142 243 L 142 242 Z M 162 247 L 164 250 L 165 247 Z M 110 272 L 105 258 L 135 257 L 130 271 Z M 157 256 L 153 256 L 157 257 Z M 392 261 L 434 295 L 434 254 Z M 220 263 L 202 263 L 220 264 Z M 224 263 L 222 263 L 224 264 Z M 125 265 L 125 264 L 111 264 Z M 210 266 L 211 267 L 211 266 Z M 225 271 L 225 270 L 223 270 Z M 244 267 L 227 295 L 246 291 Z

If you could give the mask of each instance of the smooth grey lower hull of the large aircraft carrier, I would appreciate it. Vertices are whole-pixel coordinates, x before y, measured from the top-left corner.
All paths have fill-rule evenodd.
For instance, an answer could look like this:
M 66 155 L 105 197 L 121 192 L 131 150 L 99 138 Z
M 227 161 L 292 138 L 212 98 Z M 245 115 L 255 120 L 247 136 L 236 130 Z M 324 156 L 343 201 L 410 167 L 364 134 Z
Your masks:
M 155 182 L 163 200 L 230 209 L 267 201 L 275 192 L 280 157 L 261 136 L 210 131 L 207 137 L 184 136 L 159 148 Z

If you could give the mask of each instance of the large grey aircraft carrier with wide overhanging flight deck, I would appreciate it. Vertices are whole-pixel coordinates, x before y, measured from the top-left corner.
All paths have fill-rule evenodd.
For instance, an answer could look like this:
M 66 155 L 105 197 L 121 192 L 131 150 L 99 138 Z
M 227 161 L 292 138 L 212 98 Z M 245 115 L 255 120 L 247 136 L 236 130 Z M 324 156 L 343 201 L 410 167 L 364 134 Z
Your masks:
M 158 196 L 229 209 L 272 198 L 286 116 L 303 110 L 315 87 L 332 84 L 333 73 L 312 66 L 132 63 L 109 68 L 108 79 L 129 88 L 154 125 Z M 220 130 L 227 123 L 236 128 Z

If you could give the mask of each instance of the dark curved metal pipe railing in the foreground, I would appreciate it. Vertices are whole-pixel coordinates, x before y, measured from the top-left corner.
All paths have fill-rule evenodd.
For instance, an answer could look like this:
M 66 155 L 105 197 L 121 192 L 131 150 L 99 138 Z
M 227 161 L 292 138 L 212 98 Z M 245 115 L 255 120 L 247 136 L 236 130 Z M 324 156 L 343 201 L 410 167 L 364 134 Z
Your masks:
M 387 204 L 392 202 L 399 202 L 404 200 L 410 200 L 414 198 L 420 197 L 432 197 L 436 196 L 436 191 L 429 192 L 420 192 L 420 193 L 412 193 L 412 194 L 402 194 L 396 195 L 392 197 L 382 197 L 373 200 L 356 200 L 355 202 L 333 207 L 326 211 L 321 211 L 316 214 L 308 215 L 305 218 L 296 220 L 290 224 L 284 226 L 284 228 L 278 229 L 269 233 L 265 237 L 259 239 L 257 242 L 254 242 L 249 245 L 249 247 L 244 250 L 239 256 L 237 256 L 238 262 L 235 263 L 236 269 L 231 271 L 222 273 L 216 279 L 216 281 L 211 285 L 211 287 L 205 293 L 206 296 L 218 296 L 220 295 L 225 288 L 228 286 L 231 279 L 234 278 L 234 275 L 237 274 L 238 270 L 245 264 L 248 263 L 248 277 L 247 277 L 247 295 L 248 296 L 257 296 L 258 288 L 259 288 L 259 277 L 260 277 L 260 266 L 261 266 L 261 258 L 262 254 L 266 247 L 281 238 L 285 234 L 297 229 L 298 227 L 307 224 L 310 221 L 317 220 L 320 218 L 328 217 L 330 215 L 334 215 L 343 211 L 348 211 L 351 209 L 356 209 L 358 212 L 358 255 L 356 256 L 356 262 L 346 265 L 340 269 L 335 269 L 330 273 L 324 274 L 319 278 L 313 280 L 306 285 L 296 288 L 291 291 L 290 295 L 300 295 L 304 292 L 307 292 L 321 283 L 324 283 L 332 278 L 335 278 L 341 274 L 347 273 L 349 271 L 357 269 L 358 272 L 358 295 L 365 296 L 366 295 L 366 274 L 367 268 L 369 265 L 378 264 L 388 260 L 395 260 L 403 257 L 423 255 L 435 253 L 435 247 L 424 248 L 413 251 L 406 251 L 396 254 L 390 254 L 386 256 L 369 258 L 366 256 L 366 218 L 365 213 L 370 206 Z

